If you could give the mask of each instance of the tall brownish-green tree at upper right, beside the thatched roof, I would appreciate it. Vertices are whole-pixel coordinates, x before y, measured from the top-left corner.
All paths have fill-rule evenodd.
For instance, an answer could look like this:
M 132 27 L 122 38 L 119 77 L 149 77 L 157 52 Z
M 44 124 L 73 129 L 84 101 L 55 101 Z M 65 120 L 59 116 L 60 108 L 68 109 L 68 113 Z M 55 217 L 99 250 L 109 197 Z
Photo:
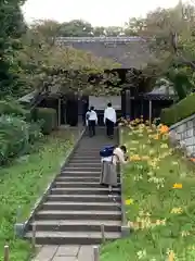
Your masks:
M 126 32 L 133 32 L 148 39 L 154 59 L 147 64 L 144 73 L 153 79 L 166 76 L 172 82 L 180 99 L 192 88 L 187 78 L 192 77 L 192 70 L 188 71 L 186 64 L 192 65 L 194 57 L 194 7 L 180 1 L 173 9 L 158 8 L 145 18 L 132 18 L 126 28 Z M 181 63 L 183 65 L 178 66 Z M 187 77 L 184 76 L 186 72 Z

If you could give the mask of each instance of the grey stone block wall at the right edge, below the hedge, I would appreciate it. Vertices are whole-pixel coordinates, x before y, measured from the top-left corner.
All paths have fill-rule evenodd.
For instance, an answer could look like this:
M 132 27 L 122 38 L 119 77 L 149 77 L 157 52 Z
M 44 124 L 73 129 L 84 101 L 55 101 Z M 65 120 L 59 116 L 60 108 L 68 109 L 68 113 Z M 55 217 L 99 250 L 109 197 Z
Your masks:
M 195 114 L 170 127 L 170 135 L 185 147 L 190 156 L 195 156 Z

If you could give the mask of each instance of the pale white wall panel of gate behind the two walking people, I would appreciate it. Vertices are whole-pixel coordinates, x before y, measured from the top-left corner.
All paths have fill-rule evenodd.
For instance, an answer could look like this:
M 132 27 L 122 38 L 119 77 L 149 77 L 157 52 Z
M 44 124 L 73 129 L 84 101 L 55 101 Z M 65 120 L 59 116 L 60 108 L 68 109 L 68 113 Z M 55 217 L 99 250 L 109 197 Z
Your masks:
M 121 110 L 121 97 L 120 96 L 89 96 L 89 105 L 93 105 L 95 110 L 104 110 L 107 103 L 112 102 L 115 110 Z

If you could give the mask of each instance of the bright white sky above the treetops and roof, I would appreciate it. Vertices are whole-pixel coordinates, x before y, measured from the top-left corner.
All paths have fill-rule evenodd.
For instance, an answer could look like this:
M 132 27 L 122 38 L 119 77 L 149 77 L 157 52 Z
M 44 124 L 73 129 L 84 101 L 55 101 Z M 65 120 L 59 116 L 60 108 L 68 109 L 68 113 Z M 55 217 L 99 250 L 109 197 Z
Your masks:
M 157 7 L 174 7 L 178 0 L 27 0 L 27 22 L 52 18 L 66 22 L 82 18 L 93 26 L 122 26 L 132 16 L 143 16 Z

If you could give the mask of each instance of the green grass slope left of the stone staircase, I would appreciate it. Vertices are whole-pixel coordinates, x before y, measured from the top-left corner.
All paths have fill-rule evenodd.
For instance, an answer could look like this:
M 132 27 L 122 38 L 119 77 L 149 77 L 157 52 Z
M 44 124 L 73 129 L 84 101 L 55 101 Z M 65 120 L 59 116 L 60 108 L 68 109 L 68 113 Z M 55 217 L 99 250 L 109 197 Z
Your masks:
M 15 238 L 14 224 L 29 215 L 36 200 L 60 170 L 74 136 L 68 130 L 53 133 L 43 138 L 37 152 L 0 169 L 0 261 L 5 243 L 10 246 L 12 261 L 25 261 L 29 257 L 30 246 Z

